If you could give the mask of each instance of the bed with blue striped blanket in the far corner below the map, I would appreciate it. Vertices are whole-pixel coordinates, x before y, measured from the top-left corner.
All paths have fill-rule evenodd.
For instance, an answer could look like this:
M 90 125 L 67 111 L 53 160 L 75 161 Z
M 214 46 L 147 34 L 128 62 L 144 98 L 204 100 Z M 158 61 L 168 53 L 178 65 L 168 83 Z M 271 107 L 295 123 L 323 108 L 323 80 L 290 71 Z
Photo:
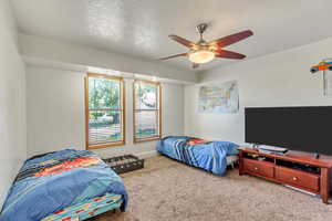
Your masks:
M 229 141 L 205 141 L 190 145 L 188 136 L 168 136 L 157 143 L 158 152 L 187 165 L 222 176 L 228 161 L 237 156 L 238 145 Z

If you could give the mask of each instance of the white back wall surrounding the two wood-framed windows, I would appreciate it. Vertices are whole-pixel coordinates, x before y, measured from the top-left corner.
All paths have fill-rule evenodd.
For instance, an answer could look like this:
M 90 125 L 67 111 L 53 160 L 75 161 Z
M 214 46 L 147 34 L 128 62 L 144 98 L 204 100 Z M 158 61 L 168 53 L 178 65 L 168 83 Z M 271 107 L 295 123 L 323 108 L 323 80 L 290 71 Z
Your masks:
M 85 148 L 84 72 L 27 66 L 28 155 Z M 126 145 L 95 150 L 103 157 L 149 155 L 155 141 L 133 144 L 133 80 L 125 80 Z M 184 86 L 163 83 L 163 136 L 184 134 Z

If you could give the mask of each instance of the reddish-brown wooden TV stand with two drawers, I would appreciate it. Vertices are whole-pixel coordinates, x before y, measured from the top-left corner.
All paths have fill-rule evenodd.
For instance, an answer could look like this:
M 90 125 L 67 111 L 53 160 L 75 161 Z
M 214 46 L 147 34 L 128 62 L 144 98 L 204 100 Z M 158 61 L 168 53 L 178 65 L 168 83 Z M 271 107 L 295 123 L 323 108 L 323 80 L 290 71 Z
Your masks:
M 252 175 L 320 194 L 324 203 L 330 197 L 332 157 L 289 150 L 286 155 L 264 154 L 240 148 L 239 175 Z

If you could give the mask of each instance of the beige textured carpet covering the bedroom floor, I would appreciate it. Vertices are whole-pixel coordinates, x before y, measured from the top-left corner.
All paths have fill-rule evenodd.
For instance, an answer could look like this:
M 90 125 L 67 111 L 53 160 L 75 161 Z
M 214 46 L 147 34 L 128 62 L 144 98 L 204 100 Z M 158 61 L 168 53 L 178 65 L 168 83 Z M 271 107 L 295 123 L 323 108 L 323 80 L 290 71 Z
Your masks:
M 108 212 L 95 221 L 332 221 L 332 204 L 238 170 L 226 177 L 166 157 L 123 177 L 127 212 Z

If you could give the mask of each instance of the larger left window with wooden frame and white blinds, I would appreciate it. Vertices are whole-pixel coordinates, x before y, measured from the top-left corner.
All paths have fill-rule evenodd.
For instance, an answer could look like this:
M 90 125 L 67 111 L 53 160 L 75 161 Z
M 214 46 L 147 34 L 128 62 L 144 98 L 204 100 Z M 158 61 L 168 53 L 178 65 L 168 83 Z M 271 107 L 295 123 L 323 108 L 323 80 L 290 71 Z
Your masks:
M 87 74 L 85 78 L 86 149 L 125 144 L 122 77 Z

